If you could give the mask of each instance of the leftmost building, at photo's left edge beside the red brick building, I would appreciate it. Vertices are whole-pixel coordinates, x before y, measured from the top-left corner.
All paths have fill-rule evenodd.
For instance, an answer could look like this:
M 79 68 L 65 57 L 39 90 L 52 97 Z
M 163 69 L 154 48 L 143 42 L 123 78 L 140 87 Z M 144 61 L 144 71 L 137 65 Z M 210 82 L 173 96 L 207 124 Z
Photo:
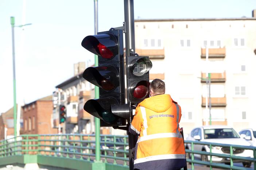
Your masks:
M 23 117 L 22 110 L 18 109 L 19 105 L 17 105 L 17 114 L 20 114 L 20 126 L 17 126 L 17 135 L 23 133 Z M 20 112 L 21 110 L 21 112 Z M 19 130 L 20 129 L 20 130 Z M 19 131 L 19 132 L 18 132 Z M 0 140 L 5 138 L 12 138 L 14 136 L 14 124 L 13 124 L 13 108 L 9 109 L 5 113 L 1 113 L 0 115 Z

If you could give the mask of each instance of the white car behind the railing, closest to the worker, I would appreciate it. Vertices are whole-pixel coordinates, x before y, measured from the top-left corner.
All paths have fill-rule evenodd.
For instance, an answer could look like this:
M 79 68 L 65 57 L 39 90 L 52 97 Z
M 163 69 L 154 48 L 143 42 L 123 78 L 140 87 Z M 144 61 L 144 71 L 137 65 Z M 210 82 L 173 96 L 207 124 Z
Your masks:
M 202 142 L 212 142 L 221 144 L 231 144 L 231 145 L 244 145 L 250 146 L 251 144 L 245 139 L 241 138 L 240 135 L 231 127 L 225 125 L 209 125 L 200 126 L 194 128 L 188 135 L 187 140 L 189 141 L 202 141 Z M 191 150 L 191 144 L 185 145 L 186 149 Z M 195 145 L 194 150 L 210 152 L 208 145 Z M 212 153 L 219 154 L 230 154 L 229 147 L 213 146 Z M 233 155 L 242 157 L 252 157 L 252 150 L 244 149 L 233 149 Z M 191 154 L 186 154 L 187 158 L 191 158 Z M 209 161 L 210 156 L 194 154 L 195 158 L 199 158 L 202 161 Z M 224 162 L 225 164 L 230 164 L 229 158 L 212 157 L 213 162 Z M 233 162 L 242 162 L 241 160 L 233 160 Z M 244 167 L 251 167 L 251 162 L 243 162 Z

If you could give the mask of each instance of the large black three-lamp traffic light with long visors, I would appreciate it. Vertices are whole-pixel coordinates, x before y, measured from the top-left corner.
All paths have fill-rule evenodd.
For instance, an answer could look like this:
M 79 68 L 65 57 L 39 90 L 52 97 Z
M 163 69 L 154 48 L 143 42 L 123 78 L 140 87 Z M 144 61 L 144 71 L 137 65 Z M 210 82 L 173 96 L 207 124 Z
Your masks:
M 89 67 L 85 80 L 99 87 L 100 97 L 88 100 L 84 110 L 100 118 L 100 126 L 123 126 L 126 120 L 111 111 L 111 105 L 125 104 L 123 31 L 110 29 L 86 36 L 82 46 L 98 55 L 98 66 Z

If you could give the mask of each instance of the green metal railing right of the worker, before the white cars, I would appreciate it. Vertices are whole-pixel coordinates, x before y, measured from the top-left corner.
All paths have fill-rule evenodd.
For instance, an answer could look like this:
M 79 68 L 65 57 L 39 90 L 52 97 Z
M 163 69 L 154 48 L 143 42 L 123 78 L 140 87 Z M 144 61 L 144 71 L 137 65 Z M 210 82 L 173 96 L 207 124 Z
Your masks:
M 191 169 L 194 170 L 194 164 L 201 164 L 201 165 L 206 165 L 210 167 L 210 170 L 212 170 L 213 167 L 219 167 L 219 168 L 224 168 L 224 169 L 232 169 L 232 170 L 246 170 L 251 168 L 245 168 L 245 167 L 239 167 L 239 166 L 234 166 L 234 162 L 253 162 L 254 163 L 254 169 L 256 170 L 256 147 L 253 146 L 242 146 L 242 145 L 229 145 L 229 144 L 220 144 L 220 143 L 210 143 L 210 142 L 201 142 L 201 141 L 186 141 L 185 140 L 185 145 L 186 148 L 188 145 L 190 145 L 189 149 L 186 149 L 186 153 L 189 153 L 189 158 L 187 158 L 187 162 L 191 163 Z M 204 145 L 205 147 L 209 147 L 210 152 L 206 152 L 205 150 L 195 150 L 194 146 L 195 145 Z M 225 154 L 220 154 L 220 153 L 214 153 L 212 150 L 213 147 L 218 146 L 219 149 L 225 148 L 229 149 L 229 153 Z M 234 149 L 242 149 L 242 150 L 250 150 L 251 155 L 250 157 L 241 157 L 234 155 L 233 150 Z M 221 152 L 222 153 L 222 152 Z M 207 157 L 209 156 L 210 159 L 208 162 L 202 161 L 195 159 L 194 154 L 199 154 L 199 155 L 206 155 Z M 224 163 L 217 163 L 213 162 L 212 158 L 224 158 L 226 160 L 230 160 L 230 165 L 225 165 Z M 229 164 L 229 163 L 228 163 Z

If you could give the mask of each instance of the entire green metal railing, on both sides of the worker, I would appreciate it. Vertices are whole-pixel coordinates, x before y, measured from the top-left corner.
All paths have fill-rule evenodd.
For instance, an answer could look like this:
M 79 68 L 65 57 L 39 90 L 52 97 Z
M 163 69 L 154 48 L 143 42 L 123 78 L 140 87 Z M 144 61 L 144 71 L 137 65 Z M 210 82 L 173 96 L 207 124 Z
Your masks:
M 108 164 L 109 168 L 105 169 L 129 169 L 128 158 L 128 136 L 127 135 L 101 135 L 100 136 L 100 153 L 102 163 Z M 191 163 L 191 169 L 194 170 L 195 164 L 224 169 L 249 169 L 245 167 L 234 166 L 234 162 L 253 162 L 254 169 L 256 170 L 256 147 L 241 146 L 241 145 L 228 145 L 220 143 L 200 142 L 200 141 L 186 141 L 185 145 L 189 146 L 186 149 L 186 153 L 190 156 L 187 158 L 187 162 Z M 209 147 L 210 151 L 195 150 L 196 145 L 203 145 Z M 215 153 L 212 147 L 228 148 L 230 154 Z M 233 149 L 251 150 L 251 157 L 241 157 L 234 155 Z M 194 154 L 207 155 L 209 161 L 202 161 L 195 159 Z M 95 136 L 84 134 L 47 134 L 47 135 L 20 135 L 16 138 L 0 141 L 0 165 L 5 163 L 15 163 L 16 160 L 23 160 L 23 163 L 31 162 L 34 159 L 34 163 L 41 163 L 42 165 L 49 166 L 62 166 L 66 167 L 68 163 L 60 165 L 59 162 L 73 161 L 73 165 L 76 162 L 89 163 L 86 164 L 88 169 L 93 169 L 92 164 L 96 158 L 95 155 Z M 35 158 L 36 157 L 36 158 Z M 230 160 L 230 165 L 224 163 L 214 162 L 212 158 L 224 158 Z M 12 158 L 12 159 L 11 159 Z M 20 158 L 20 159 L 18 159 Z M 25 160 L 25 158 L 29 160 Z M 11 160 L 10 160 L 11 159 Z M 4 160 L 4 161 L 3 161 Z M 5 161 L 7 160 L 7 161 Z M 14 162 L 13 162 L 14 161 Z M 79 163 L 77 167 L 73 169 L 84 169 Z M 7 165 L 6 164 L 6 165 Z M 69 163 L 70 164 L 70 163 Z M 84 164 L 83 164 L 84 166 Z M 118 168 L 113 166 L 118 166 Z

